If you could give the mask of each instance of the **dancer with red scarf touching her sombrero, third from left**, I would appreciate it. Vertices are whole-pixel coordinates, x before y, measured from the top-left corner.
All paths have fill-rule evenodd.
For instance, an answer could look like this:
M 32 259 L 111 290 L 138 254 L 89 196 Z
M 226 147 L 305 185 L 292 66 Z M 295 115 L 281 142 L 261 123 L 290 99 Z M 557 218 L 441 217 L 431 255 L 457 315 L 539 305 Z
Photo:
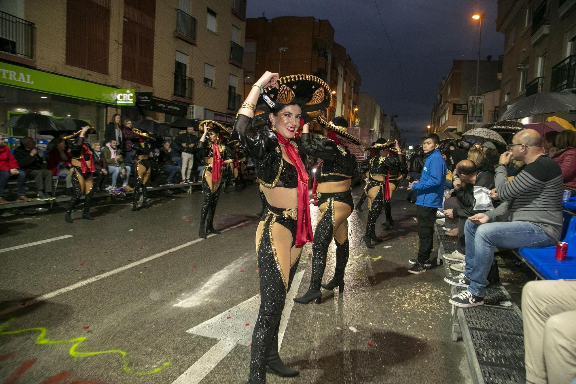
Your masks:
M 203 152 L 205 159 L 204 171 L 202 172 L 202 192 L 204 194 L 204 202 L 202 204 L 202 211 L 200 211 L 200 228 L 198 229 L 198 236 L 206 239 L 206 234 L 219 234 L 214 229 L 214 214 L 216 212 L 216 205 L 220 198 L 220 190 L 222 183 L 222 167 L 232 163 L 229 151 L 226 146 L 222 144 L 221 138 L 229 138 L 230 131 L 223 125 L 211 121 L 204 120 L 200 123 L 200 130 L 204 134 L 196 144 L 197 150 Z M 206 136 L 210 142 L 206 143 Z M 206 223 L 206 217 L 208 223 Z

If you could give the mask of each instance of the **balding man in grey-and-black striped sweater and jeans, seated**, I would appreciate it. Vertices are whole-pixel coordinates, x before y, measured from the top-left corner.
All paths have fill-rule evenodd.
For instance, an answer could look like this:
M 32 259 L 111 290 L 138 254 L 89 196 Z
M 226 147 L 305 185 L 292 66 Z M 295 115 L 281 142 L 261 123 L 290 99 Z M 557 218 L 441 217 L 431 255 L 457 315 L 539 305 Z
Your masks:
M 474 307 L 484 304 L 488 272 L 494 259 L 494 247 L 548 247 L 562 232 L 562 170 L 546 156 L 542 138 L 533 129 L 514 135 L 509 152 L 502 153 L 494 183 L 498 208 L 468 217 L 465 225 L 466 270 L 446 283 L 467 288 L 454 295 L 450 304 Z M 506 167 L 510 158 L 524 161 L 512 180 Z

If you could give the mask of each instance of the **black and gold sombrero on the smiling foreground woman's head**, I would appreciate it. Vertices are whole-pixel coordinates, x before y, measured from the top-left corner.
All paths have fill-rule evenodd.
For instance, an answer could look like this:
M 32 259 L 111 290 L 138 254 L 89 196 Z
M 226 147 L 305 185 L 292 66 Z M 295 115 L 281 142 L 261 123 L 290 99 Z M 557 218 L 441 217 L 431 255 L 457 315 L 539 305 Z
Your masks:
M 258 98 L 255 116 L 263 115 L 268 120 L 268 114 L 275 113 L 290 104 L 298 104 L 302 108 L 304 123 L 324 115 L 332 100 L 332 90 L 324 80 L 312 75 L 290 75 L 281 77 L 276 86 L 268 86 Z

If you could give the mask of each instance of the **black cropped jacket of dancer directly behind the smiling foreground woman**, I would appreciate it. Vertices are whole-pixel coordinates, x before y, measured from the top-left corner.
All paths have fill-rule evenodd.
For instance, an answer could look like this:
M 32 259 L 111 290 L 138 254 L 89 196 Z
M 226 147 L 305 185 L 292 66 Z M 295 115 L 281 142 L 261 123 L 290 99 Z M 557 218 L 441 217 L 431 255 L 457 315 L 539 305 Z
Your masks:
M 314 172 L 319 183 L 338 182 L 358 175 L 358 160 L 346 146 L 326 137 L 311 141 L 309 133 L 302 133 L 302 145 L 307 155 L 324 160 Z

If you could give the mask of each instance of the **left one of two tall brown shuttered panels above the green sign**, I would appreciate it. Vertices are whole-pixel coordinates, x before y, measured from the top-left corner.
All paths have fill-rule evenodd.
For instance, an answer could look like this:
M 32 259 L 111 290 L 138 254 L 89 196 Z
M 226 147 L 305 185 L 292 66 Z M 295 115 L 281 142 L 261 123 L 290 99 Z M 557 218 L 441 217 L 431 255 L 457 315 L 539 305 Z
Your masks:
M 108 74 L 110 0 L 68 0 L 66 64 Z

